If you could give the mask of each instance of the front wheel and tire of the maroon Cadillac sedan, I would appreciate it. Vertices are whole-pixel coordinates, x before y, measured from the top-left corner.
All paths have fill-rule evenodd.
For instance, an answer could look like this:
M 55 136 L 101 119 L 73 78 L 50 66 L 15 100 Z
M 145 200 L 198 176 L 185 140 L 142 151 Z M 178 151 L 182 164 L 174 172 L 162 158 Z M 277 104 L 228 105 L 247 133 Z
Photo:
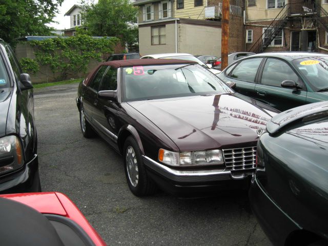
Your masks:
M 128 186 L 136 196 L 154 194 L 155 183 L 147 176 L 137 142 L 129 136 L 124 143 L 124 169 Z

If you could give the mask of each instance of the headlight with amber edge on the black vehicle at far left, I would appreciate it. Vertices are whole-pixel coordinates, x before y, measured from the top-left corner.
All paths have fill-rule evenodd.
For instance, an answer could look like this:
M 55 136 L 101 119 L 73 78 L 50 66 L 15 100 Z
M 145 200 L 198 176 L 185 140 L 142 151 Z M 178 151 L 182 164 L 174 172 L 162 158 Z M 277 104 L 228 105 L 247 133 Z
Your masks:
M 23 166 L 24 155 L 18 137 L 0 138 L 0 174 L 14 171 Z

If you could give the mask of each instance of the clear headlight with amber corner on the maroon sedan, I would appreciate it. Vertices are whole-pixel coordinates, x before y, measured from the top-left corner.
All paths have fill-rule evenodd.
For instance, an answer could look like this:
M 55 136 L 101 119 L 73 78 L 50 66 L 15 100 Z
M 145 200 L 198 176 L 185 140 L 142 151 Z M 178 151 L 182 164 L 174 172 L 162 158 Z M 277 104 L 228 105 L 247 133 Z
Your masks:
M 193 152 L 172 152 L 159 149 L 158 159 L 170 166 L 219 165 L 223 164 L 221 150 L 206 150 Z

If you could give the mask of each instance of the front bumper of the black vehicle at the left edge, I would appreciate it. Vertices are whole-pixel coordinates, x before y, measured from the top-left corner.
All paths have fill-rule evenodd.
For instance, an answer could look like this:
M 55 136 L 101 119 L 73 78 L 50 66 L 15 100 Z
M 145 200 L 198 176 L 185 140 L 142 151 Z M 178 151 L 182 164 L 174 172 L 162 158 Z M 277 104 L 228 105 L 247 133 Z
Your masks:
M 23 169 L 0 177 L 0 194 L 39 191 L 38 156 L 35 154 Z

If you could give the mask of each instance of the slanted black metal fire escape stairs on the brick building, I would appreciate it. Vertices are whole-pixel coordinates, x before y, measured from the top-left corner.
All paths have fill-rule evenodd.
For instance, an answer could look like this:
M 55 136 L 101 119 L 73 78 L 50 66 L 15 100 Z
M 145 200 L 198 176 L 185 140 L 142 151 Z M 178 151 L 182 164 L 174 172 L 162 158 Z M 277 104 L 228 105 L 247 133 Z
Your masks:
M 285 4 L 283 8 L 280 10 L 276 18 L 271 22 L 269 27 L 264 30 L 263 34 L 257 39 L 255 44 L 249 50 L 254 53 L 261 53 L 267 48 L 273 39 L 280 33 L 283 27 L 287 23 L 287 17 L 289 13 L 289 4 Z M 267 31 L 271 30 L 271 31 Z

